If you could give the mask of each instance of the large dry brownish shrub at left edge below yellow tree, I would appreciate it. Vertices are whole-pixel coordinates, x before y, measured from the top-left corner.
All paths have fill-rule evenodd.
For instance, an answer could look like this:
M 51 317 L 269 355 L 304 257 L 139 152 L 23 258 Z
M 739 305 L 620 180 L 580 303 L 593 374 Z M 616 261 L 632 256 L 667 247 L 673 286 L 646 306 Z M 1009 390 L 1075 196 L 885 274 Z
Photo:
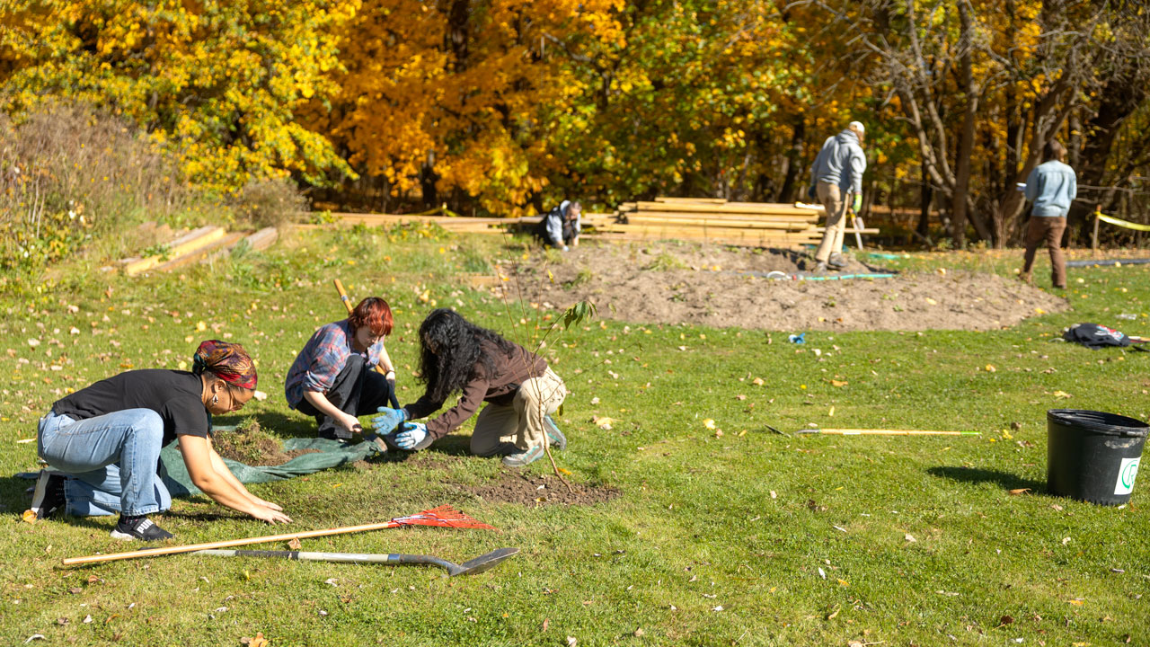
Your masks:
M 60 104 L 20 122 L 0 115 L 0 291 L 189 199 L 170 160 L 121 119 Z

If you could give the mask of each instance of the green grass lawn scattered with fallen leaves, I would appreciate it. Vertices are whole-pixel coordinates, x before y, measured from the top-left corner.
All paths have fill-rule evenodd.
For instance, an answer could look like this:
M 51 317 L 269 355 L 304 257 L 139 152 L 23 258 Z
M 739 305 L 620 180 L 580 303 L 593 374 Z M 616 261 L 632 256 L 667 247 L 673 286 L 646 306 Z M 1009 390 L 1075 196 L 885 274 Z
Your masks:
M 63 568 L 63 557 L 135 547 L 108 538 L 113 518 L 21 520 L 30 481 L 14 474 L 34 471 L 37 457 L 34 442 L 18 441 L 34 437 L 37 418 L 69 389 L 129 367 L 176 368 L 200 340 L 224 338 L 256 357 L 269 397 L 217 424 L 255 416 L 281 436 L 307 435 L 309 420 L 288 409 L 282 385 L 312 330 L 343 317 L 331 279 L 392 304 L 389 350 L 411 402 L 422 393 L 411 376 L 414 329 L 434 305 L 526 344 L 545 314 L 561 314 L 508 309 L 457 277 L 522 253 L 420 229 L 309 230 L 178 276 L 78 267 L 61 292 L 5 303 L 0 640 L 239 645 L 262 632 L 274 646 L 1150 644 L 1148 477 L 1121 509 L 1043 493 L 1048 409 L 1150 417 L 1150 356 L 1051 341 L 1079 321 L 1150 333 L 1145 266 L 1072 269 L 1071 312 L 991 333 L 812 332 L 802 347 L 779 334 L 642 321 L 553 333 L 545 352 L 570 390 L 560 418 L 570 447 L 555 458 L 576 482 L 621 490 L 605 503 L 478 500 L 457 484 L 494 479 L 498 462 L 428 459 L 461 454 L 466 443 L 454 440 L 412 460 L 389 455 L 252 486 L 284 505 L 294 518 L 286 527 L 204 497 L 156 517 L 191 543 L 453 504 L 499 531 L 389 530 L 305 540 L 304 549 L 454 562 L 522 549 L 475 577 L 189 555 Z M 963 253 L 889 265 L 1007 274 L 1017 262 Z M 1040 283 L 1045 272 L 1040 264 Z M 612 418 L 612 428 L 592 417 Z M 767 427 L 810 424 L 982 435 Z M 1029 492 L 1009 493 L 1019 488 Z

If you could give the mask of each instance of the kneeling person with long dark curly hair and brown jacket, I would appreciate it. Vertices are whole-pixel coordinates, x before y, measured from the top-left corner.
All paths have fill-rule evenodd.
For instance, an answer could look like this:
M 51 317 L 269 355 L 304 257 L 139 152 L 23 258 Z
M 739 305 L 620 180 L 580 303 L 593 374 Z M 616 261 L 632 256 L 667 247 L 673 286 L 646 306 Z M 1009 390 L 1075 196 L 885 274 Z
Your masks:
M 422 397 L 402 409 L 381 408 L 373 420 L 400 449 L 429 447 L 484 402 L 471 433 L 473 454 L 503 456 L 505 465 L 522 467 L 542 457 L 547 444 L 567 447 L 551 418 L 567 388 L 547 361 L 452 310 L 436 310 L 420 326 L 420 380 L 427 385 Z M 434 420 L 408 423 L 436 412 L 457 393 L 459 403 Z

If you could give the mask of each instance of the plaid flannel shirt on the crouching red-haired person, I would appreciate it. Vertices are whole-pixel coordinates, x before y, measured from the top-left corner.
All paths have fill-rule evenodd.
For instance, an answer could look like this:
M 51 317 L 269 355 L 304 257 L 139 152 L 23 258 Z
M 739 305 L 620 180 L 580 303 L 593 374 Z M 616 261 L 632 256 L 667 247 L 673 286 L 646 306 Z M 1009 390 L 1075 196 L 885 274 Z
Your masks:
M 289 406 L 296 409 L 304 399 L 304 391 L 328 393 L 352 353 L 366 357 L 368 368 L 379 364 L 383 340 L 367 352 L 359 352 L 352 348 L 353 337 L 354 332 L 346 319 L 321 326 L 312 335 L 304 350 L 299 351 L 284 381 Z

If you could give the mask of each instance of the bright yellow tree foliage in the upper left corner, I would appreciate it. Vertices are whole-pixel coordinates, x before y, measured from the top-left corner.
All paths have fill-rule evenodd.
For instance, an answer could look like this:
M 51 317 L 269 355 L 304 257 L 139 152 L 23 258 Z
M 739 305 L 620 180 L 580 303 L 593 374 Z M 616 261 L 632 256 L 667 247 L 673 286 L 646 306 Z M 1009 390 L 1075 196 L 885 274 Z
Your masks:
M 296 120 L 336 92 L 338 33 L 358 2 L 324 0 L 17 0 L 0 13 L 0 101 L 108 108 L 178 152 L 191 182 L 221 191 L 253 177 L 350 174 Z

